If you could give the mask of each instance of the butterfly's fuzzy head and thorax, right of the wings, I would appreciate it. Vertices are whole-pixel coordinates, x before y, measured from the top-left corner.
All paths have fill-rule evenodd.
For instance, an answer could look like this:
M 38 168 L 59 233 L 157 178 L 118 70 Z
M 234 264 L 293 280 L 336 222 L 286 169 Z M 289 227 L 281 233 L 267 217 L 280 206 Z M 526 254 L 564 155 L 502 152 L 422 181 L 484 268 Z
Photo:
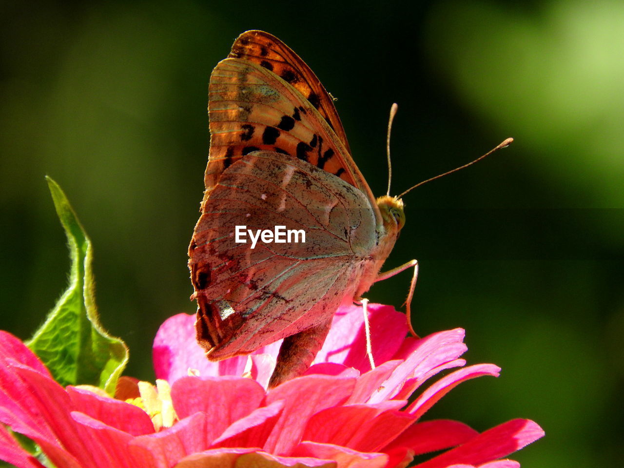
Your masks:
M 378 235 L 377 246 L 371 252 L 370 260 L 364 266 L 358 290 L 355 294 L 356 298 L 361 298 L 375 282 L 381 267 L 394 247 L 399 231 L 405 224 L 405 213 L 401 198 L 384 195 L 377 198 L 376 202 L 379 213 L 381 213 L 381 222 L 378 223 L 376 229 Z

